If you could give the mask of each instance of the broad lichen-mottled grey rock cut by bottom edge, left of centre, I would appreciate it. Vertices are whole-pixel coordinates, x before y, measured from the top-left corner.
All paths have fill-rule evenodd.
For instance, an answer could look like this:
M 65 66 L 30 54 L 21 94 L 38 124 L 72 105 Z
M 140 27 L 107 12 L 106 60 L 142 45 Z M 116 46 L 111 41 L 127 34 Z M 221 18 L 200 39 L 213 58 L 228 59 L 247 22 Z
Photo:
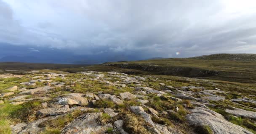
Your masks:
M 102 113 L 85 113 L 65 126 L 61 134 L 103 134 L 113 126 L 98 124 L 96 120 L 101 115 Z

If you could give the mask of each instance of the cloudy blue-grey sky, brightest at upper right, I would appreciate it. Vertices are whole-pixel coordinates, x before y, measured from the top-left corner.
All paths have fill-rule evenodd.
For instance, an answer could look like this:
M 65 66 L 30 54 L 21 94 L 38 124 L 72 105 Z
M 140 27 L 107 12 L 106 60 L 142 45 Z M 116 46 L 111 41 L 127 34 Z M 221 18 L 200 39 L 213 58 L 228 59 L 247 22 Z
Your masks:
M 0 0 L 0 58 L 48 53 L 101 61 L 256 53 L 256 1 Z

